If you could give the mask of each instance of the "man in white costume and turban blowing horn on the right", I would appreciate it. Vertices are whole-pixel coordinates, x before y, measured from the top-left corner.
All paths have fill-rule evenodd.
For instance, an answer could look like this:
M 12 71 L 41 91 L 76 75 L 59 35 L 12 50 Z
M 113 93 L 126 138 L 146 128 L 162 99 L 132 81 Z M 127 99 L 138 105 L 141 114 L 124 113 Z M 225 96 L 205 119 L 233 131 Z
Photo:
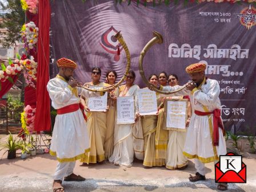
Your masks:
M 205 76 L 206 65 L 203 63 L 191 64 L 186 68 L 193 83 L 187 83 L 175 96 L 189 95 L 193 113 L 183 154 L 194 158 L 195 176 L 190 175 L 191 182 L 205 180 L 205 164 L 219 160 L 219 155 L 226 154 L 226 142 L 223 137 L 224 129 L 221 119 L 220 88 L 217 80 Z M 175 91 L 180 86 L 159 87 L 162 91 Z M 227 190 L 226 183 L 219 183 L 219 190 Z

